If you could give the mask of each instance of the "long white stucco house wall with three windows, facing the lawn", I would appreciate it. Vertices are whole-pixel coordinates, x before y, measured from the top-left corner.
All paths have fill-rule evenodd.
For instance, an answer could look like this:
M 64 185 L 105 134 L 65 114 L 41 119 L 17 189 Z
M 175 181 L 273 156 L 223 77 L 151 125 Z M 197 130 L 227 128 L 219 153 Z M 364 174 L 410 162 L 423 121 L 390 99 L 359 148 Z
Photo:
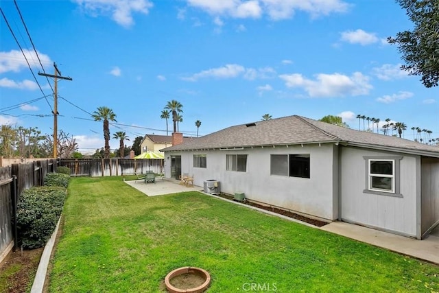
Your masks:
M 194 176 L 194 184 L 218 180 L 226 194 L 244 192 L 246 198 L 291 209 L 318 218 L 337 218 L 338 169 L 337 148 L 332 144 L 282 147 L 254 147 L 244 150 L 165 153 L 167 157 L 181 154 L 182 174 Z M 193 154 L 206 154 L 206 168 L 193 167 Z M 226 171 L 226 154 L 247 154 L 246 172 Z M 296 178 L 270 174 L 271 154 L 309 154 L 311 178 Z M 170 161 L 165 163 L 170 176 Z

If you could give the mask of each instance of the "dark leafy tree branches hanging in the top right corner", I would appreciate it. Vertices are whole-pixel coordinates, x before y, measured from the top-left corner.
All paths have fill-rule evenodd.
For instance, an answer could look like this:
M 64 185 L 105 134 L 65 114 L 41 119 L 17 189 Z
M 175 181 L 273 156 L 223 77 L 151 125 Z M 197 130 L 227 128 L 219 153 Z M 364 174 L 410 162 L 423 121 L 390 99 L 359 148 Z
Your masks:
M 407 10 L 414 23 L 413 30 L 398 32 L 389 37 L 396 44 L 406 65 L 401 69 L 410 75 L 420 75 L 427 88 L 439 82 L 439 4 L 437 0 L 396 0 Z

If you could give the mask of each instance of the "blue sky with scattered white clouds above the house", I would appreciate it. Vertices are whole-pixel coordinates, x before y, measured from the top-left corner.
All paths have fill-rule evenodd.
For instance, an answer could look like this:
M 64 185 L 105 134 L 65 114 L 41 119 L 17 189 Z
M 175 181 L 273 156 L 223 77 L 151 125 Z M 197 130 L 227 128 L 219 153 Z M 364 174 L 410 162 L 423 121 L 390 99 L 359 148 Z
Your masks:
M 196 120 L 205 135 L 268 113 L 339 115 L 355 129 L 358 114 L 390 118 L 407 125 L 406 139 L 416 126 L 439 137 L 438 89 L 399 70 L 401 55 L 385 42 L 412 27 L 393 0 L 16 3 L 45 71 L 54 74 L 56 62 L 73 78 L 58 82 L 58 129 L 82 152 L 104 146 L 102 122 L 88 114 L 97 107 L 116 113 L 111 135 L 125 131 L 131 145 L 146 133 L 165 134 L 160 115 L 171 99 L 183 105 L 180 132 L 187 136 L 196 136 Z M 1 19 L 0 122 L 52 133 L 51 88 L 37 74 L 14 1 L 0 5 L 48 95 L 38 99 L 43 93 Z

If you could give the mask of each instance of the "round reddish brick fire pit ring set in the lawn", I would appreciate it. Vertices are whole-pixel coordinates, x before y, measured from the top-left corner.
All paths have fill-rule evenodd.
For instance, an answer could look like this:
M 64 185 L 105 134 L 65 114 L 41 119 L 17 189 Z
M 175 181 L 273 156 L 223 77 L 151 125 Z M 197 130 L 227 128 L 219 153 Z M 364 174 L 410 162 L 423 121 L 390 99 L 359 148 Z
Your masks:
M 202 277 L 204 279 L 204 283 L 201 285 L 198 285 L 195 288 L 186 288 L 186 289 L 180 289 L 176 288 L 174 285 L 171 284 L 171 280 L 174 279 L 177 276 L 180 276 L 181 274 L 195 274 L 199 277 Z M 170 293 L 201 293 L 204 292 L 209 285 L 211 284 L 211 275 L 206 270 L 203 270 L 202 268 L 194 268 L 191 266 L 185 266 L 182 268 L 177 268 L 176 270 L 173 270 L 169 272 L 169 274 L 165 277 L 165 285 L 166 289 Z

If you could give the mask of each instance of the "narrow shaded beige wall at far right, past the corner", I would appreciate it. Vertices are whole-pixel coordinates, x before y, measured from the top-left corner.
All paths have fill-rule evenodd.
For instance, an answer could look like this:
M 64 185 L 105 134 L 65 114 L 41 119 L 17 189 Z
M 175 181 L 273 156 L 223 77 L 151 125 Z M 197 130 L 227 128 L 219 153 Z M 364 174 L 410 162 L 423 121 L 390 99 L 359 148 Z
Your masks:
M 439 222 L 439 159 L 421 159 L 421 233 Z

